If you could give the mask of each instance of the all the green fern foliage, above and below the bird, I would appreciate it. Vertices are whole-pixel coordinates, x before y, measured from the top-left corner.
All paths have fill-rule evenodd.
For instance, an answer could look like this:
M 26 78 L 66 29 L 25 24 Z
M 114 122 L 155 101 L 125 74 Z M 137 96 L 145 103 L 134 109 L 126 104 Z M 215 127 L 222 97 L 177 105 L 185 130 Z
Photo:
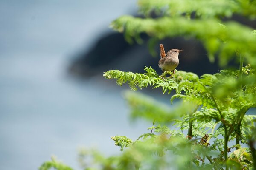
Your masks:
M 106 79 L 115 79 L 120 86 L 127 83 L 133 91 L 150 87 L 161 88 L 163 94 L 175 93 L 170 101 L 177 103 L 167 106 L 152 97 L 125 92 L 131 118 L 148 120 L 153 126 L 135 141 L 126 136 L 112 137 L 122 151 L 118 156 L 81 150 L 82 167 L 256 169 L 256 116 L 247 113 L 256 107 L 256 30 L 231 21 L 235 14 L 256 18 L 256 0 L 139 0 L 138 4 L 144 18 L 122 16 L 111 23 L 128 42 L 134 39 L 140 43 L 141 33 L 152 37 L 148 42 L 151 47 L 166 37 L 195 38 L 204 45 L 210 61 L 218 58 L 219 64 L 226 66 L 240 59 L 239 70 L 221 70 L 201 77 L 185 71 L 167 72 L 171 76 L 166 79 L 151 67 L 145 67 L 144 74 L 106 71 Z M 151 18 L 152 13 L 157 17 Z M 230 141 L 236 145 L 230 146 Z M 45 162 L 41 168 L 56 168 L 54 162 Z

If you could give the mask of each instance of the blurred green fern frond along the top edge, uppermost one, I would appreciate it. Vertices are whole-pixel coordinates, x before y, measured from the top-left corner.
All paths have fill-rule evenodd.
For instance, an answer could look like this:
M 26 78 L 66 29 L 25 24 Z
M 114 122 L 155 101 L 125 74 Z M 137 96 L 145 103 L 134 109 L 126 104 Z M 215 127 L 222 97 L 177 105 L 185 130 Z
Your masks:
M 233 13 L 236 14 L 250 14 L 256 16 L 256 4 L 245 3 L 244 1 L 234 0 L 139 0 L 140 12 L 146 16 L 150 15 L 152 11 L 157 14 L 164 14 L 166 16 L 180 16 L 184 13 L 191 14 L 195 12 L 197 17 L 212 18 L 217 16 L 231 17 Z

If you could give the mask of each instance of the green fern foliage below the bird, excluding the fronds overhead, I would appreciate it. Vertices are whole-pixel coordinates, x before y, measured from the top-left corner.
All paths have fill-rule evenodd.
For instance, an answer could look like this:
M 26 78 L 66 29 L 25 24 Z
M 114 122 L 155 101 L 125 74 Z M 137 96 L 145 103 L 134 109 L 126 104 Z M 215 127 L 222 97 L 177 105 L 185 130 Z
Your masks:
M 145 74 L 138 74 L 114 70 L 105 72 L 104 76 L 108 79 L 116 79 L 118 85 L 128 83 L 135 91 L 148 85 L 151 88 L 162 88 L 163 93 L 175 91 L 176 94 L 172 96 L 171 101 L 180 98 L 183 102 L 172 108 L 149 96 L 126 92 L 125 99 L 131 108 L 131 117 L 143 118 L 158 125 L 149 127 L 150 133 L 144 133 L 137 141 L 129 144 L 129 150 L 122 156 L 128 153 L 131 155 L 140 153 L 138 159 L 140 169 L 143 169 L 142 164 L 146 164 L 149 169 L 173 167 L 169 164 L 174 161 L 173 155 L 175 158 L 183 156 L 180 157 L 179 163 L 176 162 L 177 169 L 186 169 L 187 166 L 191 169 L 253 167 L 252 153 L 248 148 L 237 149 L 227 157 L 230 148 L 224 145 L 225 141 L 229 142 L 233 139 L 247 143 L 255 128 L 253 121 L 256 116 L 245 115 L 249 108 L 256 106 L 256 91 L 251 90 L 255 88 L 255 78 L 250 65 L 242 68 L 242 82 L 239 79 L 239 70 L 221 70 L 220 73 L 204 74 L 201 77 L 193 73 L 176 71 L 175 75 L 164 80 L 153 68 L 145 67 L 145 71 Z M 195 106 L 201 107 L 193 111 Z M 189 127 L 191 121 L 193 124 Z M 171 130 L 167 125 L 175 129 Z M 186 136 L 186 130 L 189 128 L 192 128 L 192 134 Z M 151 157 L 148 157 L 147 153 Z M 144 156 L 145 154 L 147 156 Z M 159 157 L 155 157 L 154 154 Z M 116 160 L 120 160 L 121 157 Z M 163 161 L 166 159 L 169 161 Z M 133 168 L 129 168 L 136 168 L 138 162 L 133 159 L 129 162 L 133 164 Z M 125 168 L 127 167 L 121 169 Z

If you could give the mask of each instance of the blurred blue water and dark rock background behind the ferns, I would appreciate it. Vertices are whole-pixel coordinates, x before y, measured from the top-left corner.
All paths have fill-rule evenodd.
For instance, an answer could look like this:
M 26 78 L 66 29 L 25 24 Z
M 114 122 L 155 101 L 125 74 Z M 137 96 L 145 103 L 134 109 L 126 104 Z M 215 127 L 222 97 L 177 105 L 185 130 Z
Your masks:
M 145 35 L 142 45 L 128 44 L 109 28 L 123 14 L 137 14 L 136 0 L 0 1 L 1 170 L 34 170 L 52 155 L 79 169 L 79 147 L 116 154 L 111 136 L 146 133 L 150 123 L 127 119 L 125 88 L 102 74 L 143 73 L 144 66 L 161 74 L 160 43 L 166 52 L 185 50 L 178 70 L 202 75 L 220 69 L 195 40 L 162 40 L 151 49 L 155 57 Z M 169 104 L 170 96 L 159 90 L 144 92 Z

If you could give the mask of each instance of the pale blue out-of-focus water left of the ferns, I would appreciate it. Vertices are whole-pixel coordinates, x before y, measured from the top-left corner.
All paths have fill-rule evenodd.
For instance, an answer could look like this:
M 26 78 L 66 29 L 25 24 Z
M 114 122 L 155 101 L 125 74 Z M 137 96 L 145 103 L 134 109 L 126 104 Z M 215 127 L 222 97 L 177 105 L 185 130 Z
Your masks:
M 118 153 L 111 136 L 136 139 L 146 132 L 145 123 L 131 126 L 127 120 L 122 88 L 66 75 L 70 56 L 90 47 L 111 20 L 130 13 L 135 4 L 0 1 L 1 170 L 35 170 L 52 154 L 79 169 L 79 146 Z

